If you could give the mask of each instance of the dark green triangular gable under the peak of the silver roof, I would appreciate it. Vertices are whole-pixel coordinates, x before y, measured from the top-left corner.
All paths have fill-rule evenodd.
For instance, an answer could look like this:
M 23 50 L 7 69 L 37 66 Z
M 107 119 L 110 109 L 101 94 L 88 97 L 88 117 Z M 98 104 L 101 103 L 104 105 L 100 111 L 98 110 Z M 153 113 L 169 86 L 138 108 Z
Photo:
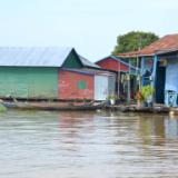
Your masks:
M 65 60 L 63 68 L 82 68 L 82 63 L 80 62 L 78 56 L 71 51 L 70 55 L 67 57 L 67 59 Z

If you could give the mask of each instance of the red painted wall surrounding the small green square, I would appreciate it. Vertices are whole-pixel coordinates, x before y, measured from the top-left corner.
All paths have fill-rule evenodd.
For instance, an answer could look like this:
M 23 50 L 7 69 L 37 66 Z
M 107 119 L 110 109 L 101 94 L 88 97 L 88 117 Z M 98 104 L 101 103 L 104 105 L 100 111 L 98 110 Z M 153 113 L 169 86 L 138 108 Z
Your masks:
M 78 82 L 86 81 L 86 89 L 79 89 Z M 93 76 L 73 71 L 59 71 L 59 99 L 93 99 Z

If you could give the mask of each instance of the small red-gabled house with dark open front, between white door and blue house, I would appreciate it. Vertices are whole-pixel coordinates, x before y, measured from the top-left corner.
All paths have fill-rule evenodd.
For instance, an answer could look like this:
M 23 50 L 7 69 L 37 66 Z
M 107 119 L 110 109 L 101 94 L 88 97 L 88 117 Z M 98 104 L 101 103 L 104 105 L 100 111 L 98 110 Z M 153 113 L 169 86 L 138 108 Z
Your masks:
M 120 98 L 134 98 L 137 91 L 137 68 L 129 63 L 129 60 L 117 56 L 108 56 L 96 62 L 102 69 L 110 70 L 117 75 L 116 90 Z

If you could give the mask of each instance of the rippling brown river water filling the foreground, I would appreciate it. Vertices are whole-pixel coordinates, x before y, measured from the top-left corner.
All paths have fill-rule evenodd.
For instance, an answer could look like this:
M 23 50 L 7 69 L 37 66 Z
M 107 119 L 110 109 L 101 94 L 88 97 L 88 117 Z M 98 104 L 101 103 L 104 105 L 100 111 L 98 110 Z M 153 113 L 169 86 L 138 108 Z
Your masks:
M 178 117 L 0 113 L 0 178 L 178 177 Z

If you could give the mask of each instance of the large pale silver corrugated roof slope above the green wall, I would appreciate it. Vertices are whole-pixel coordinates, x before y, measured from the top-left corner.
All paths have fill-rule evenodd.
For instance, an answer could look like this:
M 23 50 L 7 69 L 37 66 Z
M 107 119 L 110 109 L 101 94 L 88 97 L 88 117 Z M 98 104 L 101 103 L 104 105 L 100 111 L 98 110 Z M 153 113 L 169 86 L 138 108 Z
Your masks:
M 0 47 L 0 66 L 61 67 L 73 48 Z

